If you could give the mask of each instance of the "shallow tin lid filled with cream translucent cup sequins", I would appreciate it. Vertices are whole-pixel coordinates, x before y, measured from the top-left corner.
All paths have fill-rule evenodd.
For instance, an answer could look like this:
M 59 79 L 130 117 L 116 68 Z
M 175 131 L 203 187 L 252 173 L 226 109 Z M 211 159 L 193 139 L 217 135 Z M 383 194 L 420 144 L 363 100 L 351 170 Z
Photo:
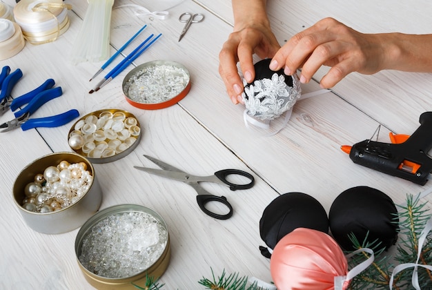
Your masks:
M 68 134 L 68 144 L 92 163 L 108 163 L 132 152 L 141 135 L 135 115 L 111 108 L 89 113 L 75 122 Z

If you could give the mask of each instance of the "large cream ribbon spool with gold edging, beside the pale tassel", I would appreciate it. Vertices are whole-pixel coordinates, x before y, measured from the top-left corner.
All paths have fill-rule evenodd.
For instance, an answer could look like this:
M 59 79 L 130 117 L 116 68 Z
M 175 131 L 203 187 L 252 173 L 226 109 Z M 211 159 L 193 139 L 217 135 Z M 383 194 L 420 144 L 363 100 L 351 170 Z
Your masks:
M 68 9 L 71 8 L 61 0 L 21 0 L 14 7 L 14 18 L 28 42 L 47 43 L 55 41 L 68 30 Z

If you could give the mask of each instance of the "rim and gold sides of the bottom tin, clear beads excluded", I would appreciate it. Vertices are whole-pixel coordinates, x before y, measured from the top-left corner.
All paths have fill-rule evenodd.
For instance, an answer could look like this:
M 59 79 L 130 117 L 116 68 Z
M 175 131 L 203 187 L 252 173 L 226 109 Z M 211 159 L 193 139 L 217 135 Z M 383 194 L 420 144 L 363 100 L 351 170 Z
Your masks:
M 131 212 L 148 213 L 149 215 L 152 215 L 153 218 L 160 222 L 160 224 L 168 232 L 168 226 L 166 226 L 166 222 L 156 211 L 137 204 L 120 204 L 117 206 L 110 206 L 107 209 L 99 211 L 99 213 L 96 213 L 90 219 L 88 219 L 87 222 L 84 223 L 83 226 L 81 226 L 81 229 L 79 229 L 77 233 L 77 238 L 75 239 L 75 254 L 77 256 L 79 268 L 84 273 L 84 277 L 93 287 L 97 289 L 137 289 L 134 284 L 140 287 L 144 287 L 147 277 L 153 277 L 155 280 L 157 280 L 168 268 L 171 253 L 169 233 L 165 249 L 161 253 L 160 257 L 153 264 L 151 264 L 150 267 L 130 277 L 106 278 L 98 276 L 92 271 L 86 269 L 86 267 L 84 267 L 84 265 L 80 262 L 79 257 L 82 252 L 84 239 L 89 233 L 91 233 L 92 229 L 95 227 L 96 224 L 98 224 L 102 220 L 106 220 L 112 215 L 119 215 L 121 213 Z M 101 245 L 101 247 L 104 246 Z

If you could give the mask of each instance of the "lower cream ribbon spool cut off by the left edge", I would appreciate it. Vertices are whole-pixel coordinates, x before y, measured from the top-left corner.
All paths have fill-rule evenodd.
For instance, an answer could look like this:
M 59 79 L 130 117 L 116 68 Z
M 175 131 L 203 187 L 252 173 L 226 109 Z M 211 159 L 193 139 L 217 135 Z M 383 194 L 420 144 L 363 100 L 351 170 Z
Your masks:
M 8 19 L 0 19 L 0 60 L 17 55 L 25 45 L 19 25 Z

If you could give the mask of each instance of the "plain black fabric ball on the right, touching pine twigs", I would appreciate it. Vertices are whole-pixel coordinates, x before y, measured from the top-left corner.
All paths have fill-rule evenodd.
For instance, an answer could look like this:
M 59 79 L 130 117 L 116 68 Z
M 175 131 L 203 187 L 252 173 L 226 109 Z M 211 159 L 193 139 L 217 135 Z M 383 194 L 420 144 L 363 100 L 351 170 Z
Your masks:
M 353 233 L 362 243 L 378 240 L 389 249 L 397 240 L 399 218 L 393 200 L 377 189 L 357 186 L 336 197 L 328 213 L 333 238 L 346 251 L 353 250 L 348 235 Z M 369 231 L 369 233 L 368 233 Z

